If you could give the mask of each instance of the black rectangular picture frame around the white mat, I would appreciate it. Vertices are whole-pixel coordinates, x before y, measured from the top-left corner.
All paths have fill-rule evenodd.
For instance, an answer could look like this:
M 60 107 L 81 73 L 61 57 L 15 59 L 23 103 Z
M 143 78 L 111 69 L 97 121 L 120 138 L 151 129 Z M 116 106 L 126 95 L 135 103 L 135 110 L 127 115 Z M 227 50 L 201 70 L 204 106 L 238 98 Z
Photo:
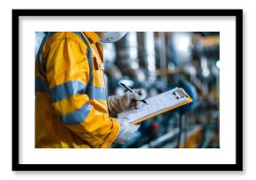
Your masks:
M 235 164 L 21 164 L 19 163 L 19 17 L 24 16 L 205 16 L 236 18 Z M 12 10 L 12 170 L 49 171 L 240 171 L 243 170 L 243 10 Z

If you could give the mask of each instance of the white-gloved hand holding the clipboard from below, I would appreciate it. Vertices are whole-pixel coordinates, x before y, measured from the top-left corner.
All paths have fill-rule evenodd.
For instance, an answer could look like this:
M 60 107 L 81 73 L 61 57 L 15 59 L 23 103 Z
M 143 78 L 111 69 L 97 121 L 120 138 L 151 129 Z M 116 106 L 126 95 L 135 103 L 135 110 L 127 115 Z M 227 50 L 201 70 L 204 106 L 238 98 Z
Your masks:
M 125 141 L 129 140 L 132 137 L 132 134 L 137 132 L 139 129 L 139 125 L 132 125 L 128 122 L 128 119 L 117 119 L 117 122 L 120 126 L 119 133 L 117 135 L 117 139 L 114 143 L 124 144 Z

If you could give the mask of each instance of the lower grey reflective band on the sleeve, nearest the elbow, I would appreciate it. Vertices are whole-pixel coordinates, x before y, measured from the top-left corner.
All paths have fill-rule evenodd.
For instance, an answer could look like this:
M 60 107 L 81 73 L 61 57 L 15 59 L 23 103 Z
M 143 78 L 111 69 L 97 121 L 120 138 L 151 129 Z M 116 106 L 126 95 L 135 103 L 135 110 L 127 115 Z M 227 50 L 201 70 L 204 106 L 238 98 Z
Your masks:
M 79 110 L 70 114 L 59 116 L 59 119 L 66 125 L 76 125 L 87 119 L 88 114 L 91 112 L 92 106 L 90 104 L 83 105 Z

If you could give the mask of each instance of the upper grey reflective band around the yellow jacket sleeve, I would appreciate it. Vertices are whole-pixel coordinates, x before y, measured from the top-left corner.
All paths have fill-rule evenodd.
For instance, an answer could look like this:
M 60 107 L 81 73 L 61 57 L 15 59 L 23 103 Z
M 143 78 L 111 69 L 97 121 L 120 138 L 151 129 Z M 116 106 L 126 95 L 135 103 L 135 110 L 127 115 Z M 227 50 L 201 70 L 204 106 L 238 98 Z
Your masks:
M 87 85 L 79 81 L 70 81 L 49 90 L 51 102 L 63 100 L 76 94 L 85 94 Z

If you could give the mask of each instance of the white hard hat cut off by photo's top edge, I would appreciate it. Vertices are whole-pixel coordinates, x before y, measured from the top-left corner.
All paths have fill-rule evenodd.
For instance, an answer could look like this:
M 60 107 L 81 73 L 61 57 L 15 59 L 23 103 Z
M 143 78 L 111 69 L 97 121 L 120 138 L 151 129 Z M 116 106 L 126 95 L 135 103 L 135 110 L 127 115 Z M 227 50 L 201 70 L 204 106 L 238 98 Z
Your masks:
M 123 38 L 126 32 L 97 32 L 97 34 L 102 42 L 116 42 Z

